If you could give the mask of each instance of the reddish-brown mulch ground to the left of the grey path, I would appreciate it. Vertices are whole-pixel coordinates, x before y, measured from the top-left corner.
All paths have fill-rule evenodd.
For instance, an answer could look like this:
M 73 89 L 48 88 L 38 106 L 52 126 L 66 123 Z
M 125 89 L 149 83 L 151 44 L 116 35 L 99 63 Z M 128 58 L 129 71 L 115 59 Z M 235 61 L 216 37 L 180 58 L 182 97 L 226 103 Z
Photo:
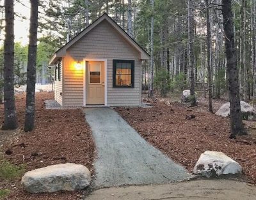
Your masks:
M 36 128 L 26 133 L 22 131 L 26 96 L 16 96 L 20 126 L 15 131 L 0 130 L 0 169 L 11 167 L 16 171 L 20 169 L 20 173 L 3 178 L 0 170 L 0 199 L 4 192 L 10 193 L 8 199 L 77 199 L 82 196 L 82 192 L 24 192 L 20 178 L 31 169 L 72 162 L 83 164 L 94 174 L 95 145 L 83 111 L 45 110 L 44 100 L 53 98 L 54 93 L 36 92 Z M 0 113 L 0 122 L 3 122 L 3 105 L 0 105 Z

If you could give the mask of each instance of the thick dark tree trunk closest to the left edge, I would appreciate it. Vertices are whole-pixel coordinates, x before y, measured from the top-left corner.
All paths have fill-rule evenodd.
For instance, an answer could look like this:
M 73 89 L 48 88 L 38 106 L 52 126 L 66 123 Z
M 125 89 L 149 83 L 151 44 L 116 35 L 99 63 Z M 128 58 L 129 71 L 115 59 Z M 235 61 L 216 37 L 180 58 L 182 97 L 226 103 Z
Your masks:
M 4 1 L 4 124 L 2 129 L 17 129 L 17 115 L 14 97 L 14 11 L 13 0 Z

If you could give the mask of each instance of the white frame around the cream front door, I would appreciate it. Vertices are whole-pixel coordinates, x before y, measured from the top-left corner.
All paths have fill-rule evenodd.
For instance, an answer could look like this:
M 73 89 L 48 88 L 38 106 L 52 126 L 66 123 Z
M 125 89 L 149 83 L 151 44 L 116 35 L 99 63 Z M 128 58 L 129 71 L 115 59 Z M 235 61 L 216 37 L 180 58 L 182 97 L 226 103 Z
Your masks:
M 83 68 L 83 106 L 86 106 L 86 62 L 95 61 L 95 62 L 104 62 L 104 106 L 108 106 L 108 59 L 84 59 L 84 68 Z M 92 105 L 90 105 L 92 106 Z M 95 105 L 97 106 L 97 105 Z

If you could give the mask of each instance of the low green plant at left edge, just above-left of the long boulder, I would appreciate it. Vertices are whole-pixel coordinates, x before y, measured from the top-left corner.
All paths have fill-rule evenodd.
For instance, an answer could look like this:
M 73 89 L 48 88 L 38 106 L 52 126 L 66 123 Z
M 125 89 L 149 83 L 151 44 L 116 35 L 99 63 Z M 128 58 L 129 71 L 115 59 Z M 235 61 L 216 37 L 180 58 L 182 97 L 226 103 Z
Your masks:
M 25 166 L 22 164 L 17 166 L 6 160 L 0 160 L 0 179 L 19 178 L 25 171 Z

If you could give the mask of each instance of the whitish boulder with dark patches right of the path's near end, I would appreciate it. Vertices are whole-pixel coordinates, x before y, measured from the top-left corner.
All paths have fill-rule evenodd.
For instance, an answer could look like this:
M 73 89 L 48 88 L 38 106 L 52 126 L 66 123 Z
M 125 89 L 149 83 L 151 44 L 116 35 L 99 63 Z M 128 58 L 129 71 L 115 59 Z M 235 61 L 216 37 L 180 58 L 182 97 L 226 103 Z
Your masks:
M 222 152 L 206 151 L 200 155 L 193 172 L 210 178 L 216 175 L 241 173 L 242 167 Z

